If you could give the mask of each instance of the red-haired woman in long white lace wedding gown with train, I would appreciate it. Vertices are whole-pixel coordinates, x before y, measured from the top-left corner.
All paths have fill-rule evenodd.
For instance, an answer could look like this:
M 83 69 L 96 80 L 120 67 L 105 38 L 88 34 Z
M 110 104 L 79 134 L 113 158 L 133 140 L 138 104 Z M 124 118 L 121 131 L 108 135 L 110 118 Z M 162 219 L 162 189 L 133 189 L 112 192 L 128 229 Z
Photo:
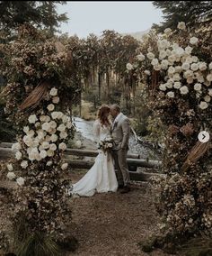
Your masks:
M 97 120 L 93 123 L 93 134 L 98 143 L 104 141 L 110 135 L 109 121 L 110 107 L 102 105 L 97 113 Z M 92 197 L 95 192 L 116 192 L 118 181 L 115 174 L 113 159 L 109 151 L 98 150 L 93 167 L 73 185 L 72 195 Z

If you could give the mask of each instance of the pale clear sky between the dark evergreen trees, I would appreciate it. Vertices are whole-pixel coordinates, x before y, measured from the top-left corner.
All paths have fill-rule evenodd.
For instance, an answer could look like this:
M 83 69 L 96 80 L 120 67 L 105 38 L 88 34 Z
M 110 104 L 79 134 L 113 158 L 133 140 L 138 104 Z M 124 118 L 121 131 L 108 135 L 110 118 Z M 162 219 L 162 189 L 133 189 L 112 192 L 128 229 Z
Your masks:
M 57 5 L 57 13 L 69 18 L 60 31 L 80 38 L 90 33 L 100 36 L 104 30 L 142 32 L 163 21 L 162 11 L 149 1 L 66 1 Z

